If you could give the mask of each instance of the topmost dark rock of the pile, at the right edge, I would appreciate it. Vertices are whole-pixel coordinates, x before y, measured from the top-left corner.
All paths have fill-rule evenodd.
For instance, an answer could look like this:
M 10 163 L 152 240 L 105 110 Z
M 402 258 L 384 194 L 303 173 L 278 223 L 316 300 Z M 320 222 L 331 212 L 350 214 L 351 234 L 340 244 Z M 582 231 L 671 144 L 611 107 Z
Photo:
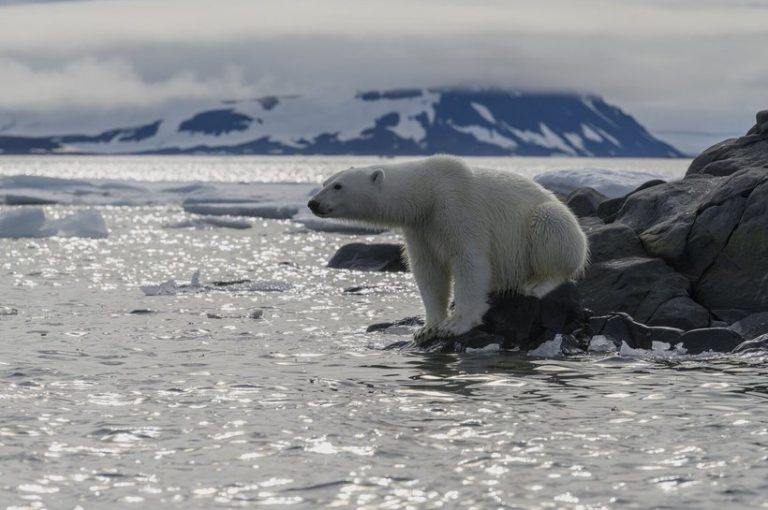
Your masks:
M 731 175 L 746 167 L 768 168 L 768 114 L 755 116 L 756 123 L 745 136 L 713 145 L 691 162 L 686 178 L 696 174 Z

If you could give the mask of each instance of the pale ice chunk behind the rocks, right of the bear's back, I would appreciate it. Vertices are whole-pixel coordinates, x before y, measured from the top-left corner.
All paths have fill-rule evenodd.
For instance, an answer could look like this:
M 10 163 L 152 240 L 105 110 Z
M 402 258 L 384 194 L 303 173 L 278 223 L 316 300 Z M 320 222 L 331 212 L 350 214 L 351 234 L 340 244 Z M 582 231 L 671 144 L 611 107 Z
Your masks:
M 548 190 L 568 195 L 576 188 L 590 187 L 608 198 L 623 197 L 644 182 L 669 179 L 668 175 L 639 170 L 610 170 L 607 168 L 573 168 L 545 172 L 534 178 Z

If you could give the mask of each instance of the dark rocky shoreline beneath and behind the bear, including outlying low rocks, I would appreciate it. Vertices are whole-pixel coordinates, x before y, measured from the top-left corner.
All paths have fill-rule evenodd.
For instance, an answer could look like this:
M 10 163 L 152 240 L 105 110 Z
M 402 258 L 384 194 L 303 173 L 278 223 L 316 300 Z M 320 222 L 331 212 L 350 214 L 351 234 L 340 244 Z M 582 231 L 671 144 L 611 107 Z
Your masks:
M 483 326 L 423 347 L 530 351 L 557 339 L 575 353 L 597 338 L 617 349 L 768 350 L 768 110 L 756 120 L 695 158 L 679 181 L 650 181 L 621 198 L 591 188 L 561 197 L 589 238 L 585 277 L 543 300 L 492 296 Z M 399 250 L 347 245 L 332 267 L 405 270 Z

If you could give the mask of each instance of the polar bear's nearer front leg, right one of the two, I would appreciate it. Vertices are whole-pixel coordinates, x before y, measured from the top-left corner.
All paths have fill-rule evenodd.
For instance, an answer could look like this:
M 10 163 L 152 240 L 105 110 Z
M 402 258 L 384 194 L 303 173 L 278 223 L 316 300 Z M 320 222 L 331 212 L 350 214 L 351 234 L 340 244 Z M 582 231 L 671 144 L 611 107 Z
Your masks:
M 452 262 L 454 310 L 437 325 L 438 336 L 458 336 L 483 322 L 488 311 L 491 288 L 491 263 L 477 250 L 466 249 Z

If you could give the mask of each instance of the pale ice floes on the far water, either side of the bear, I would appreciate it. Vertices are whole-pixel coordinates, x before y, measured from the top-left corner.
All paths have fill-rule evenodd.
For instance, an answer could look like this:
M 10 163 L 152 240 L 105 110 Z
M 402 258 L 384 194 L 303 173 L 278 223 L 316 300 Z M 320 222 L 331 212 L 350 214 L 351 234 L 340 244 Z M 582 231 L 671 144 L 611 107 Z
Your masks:
M 547 172 L 537 180 L 554 191 L 567 194 L 590 186 L 612 196 L 636 183 L 664 177 L 647 171 L 564 169 Z M 10 175 L 0 177 L 0 204 L 21 206 L 0 209 L 0 237 L 46 237 L 52 235 L 105 237 L 104 221 L 92 209 L 70 218 L 48 220 L 41 206 L 148 206 L 177 205 L 202 217 L 239 216 L 291 220 L 300 228 L 321 232 L 368 233 L 374 230 L 331 219 L 317 218 L 306 206 L 318 185 L 307 183 L 203 183 L 148 182 L 117 179 L 62 179 Z M 240 220 L 200 220 L 169 227 L 247 228 Z

